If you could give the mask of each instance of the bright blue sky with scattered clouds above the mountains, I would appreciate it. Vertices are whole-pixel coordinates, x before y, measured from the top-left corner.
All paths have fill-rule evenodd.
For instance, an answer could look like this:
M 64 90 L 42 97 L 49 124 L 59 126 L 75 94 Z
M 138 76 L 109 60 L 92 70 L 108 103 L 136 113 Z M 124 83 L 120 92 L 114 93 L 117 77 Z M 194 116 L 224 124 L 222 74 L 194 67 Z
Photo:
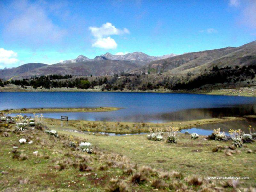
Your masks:
M 0 69 L 81 54 L 183 54 L 254 40 L 256 0 L 0 0 Z

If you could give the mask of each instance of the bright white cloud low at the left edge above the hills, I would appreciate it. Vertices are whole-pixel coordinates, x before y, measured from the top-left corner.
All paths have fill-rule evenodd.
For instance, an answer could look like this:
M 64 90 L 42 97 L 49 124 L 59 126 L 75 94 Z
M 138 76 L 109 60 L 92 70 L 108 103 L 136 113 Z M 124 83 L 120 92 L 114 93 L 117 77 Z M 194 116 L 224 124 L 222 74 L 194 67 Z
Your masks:
M 12 50 L 6 50 L 4 48 L 0 48 L 0 63 L 3 64 L 1 66 L 17 63 L 19 61 L 16 58 L 17 56 L 18 54 Z

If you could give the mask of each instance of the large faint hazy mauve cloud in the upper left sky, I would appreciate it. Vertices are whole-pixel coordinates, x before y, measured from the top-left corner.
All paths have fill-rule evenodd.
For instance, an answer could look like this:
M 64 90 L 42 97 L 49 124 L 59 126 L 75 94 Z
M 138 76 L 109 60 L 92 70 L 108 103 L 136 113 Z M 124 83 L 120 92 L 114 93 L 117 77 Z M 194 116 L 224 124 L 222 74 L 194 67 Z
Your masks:
M 22 6 L 14 6 L 15 14 L 6 21 L 3 34 L 8 41 L 40 45 L 62 40 L 66 31 L 54 24 L 42 4 L 22 2 Z

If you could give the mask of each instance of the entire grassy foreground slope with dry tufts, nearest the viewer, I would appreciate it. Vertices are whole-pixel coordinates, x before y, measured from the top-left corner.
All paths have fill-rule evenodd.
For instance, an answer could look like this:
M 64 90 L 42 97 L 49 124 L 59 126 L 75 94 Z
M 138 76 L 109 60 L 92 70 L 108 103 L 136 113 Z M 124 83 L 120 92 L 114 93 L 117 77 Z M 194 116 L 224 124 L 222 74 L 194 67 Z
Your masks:
M 185 134 L 178 134 L 176 144 L 148 140 L 146 135 L 96 136 L 64 131 L 54 121 L 46 119 L 45 124 L 57 130 L 59 137 L 31 127 L 14 131 L 15 124 L 0 123 L 0 190 L 244 191 L 256 187 L 255 143 L 225 155 L 227 149 L 213 153 L 212 148 L 225 148 L 231 141 L 203 136 L 192 140 Z M 27 143 L 20 144 L 21 138 Z M 92 154 L 77 148 L 81 141 L 92 143 Z M 239 180 L 238 185 L 207 176 L 249 179 Z

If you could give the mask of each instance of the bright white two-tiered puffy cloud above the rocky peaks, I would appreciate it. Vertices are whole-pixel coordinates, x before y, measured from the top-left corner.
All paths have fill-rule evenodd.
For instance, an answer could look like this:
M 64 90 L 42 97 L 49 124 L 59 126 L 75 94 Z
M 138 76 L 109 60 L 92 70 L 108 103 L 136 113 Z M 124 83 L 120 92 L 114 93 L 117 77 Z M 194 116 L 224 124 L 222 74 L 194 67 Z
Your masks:
M 110 35 L 122 35 L 130 33 L 127 28 L 118 29 L 112 23 L 105 23 L 101 27 L 89 27 L 92 36 L 95 37 L 95 42 L 92 44 L 93 47 L 103 48 L 103 49 L 115 49 L 117 43 Z

